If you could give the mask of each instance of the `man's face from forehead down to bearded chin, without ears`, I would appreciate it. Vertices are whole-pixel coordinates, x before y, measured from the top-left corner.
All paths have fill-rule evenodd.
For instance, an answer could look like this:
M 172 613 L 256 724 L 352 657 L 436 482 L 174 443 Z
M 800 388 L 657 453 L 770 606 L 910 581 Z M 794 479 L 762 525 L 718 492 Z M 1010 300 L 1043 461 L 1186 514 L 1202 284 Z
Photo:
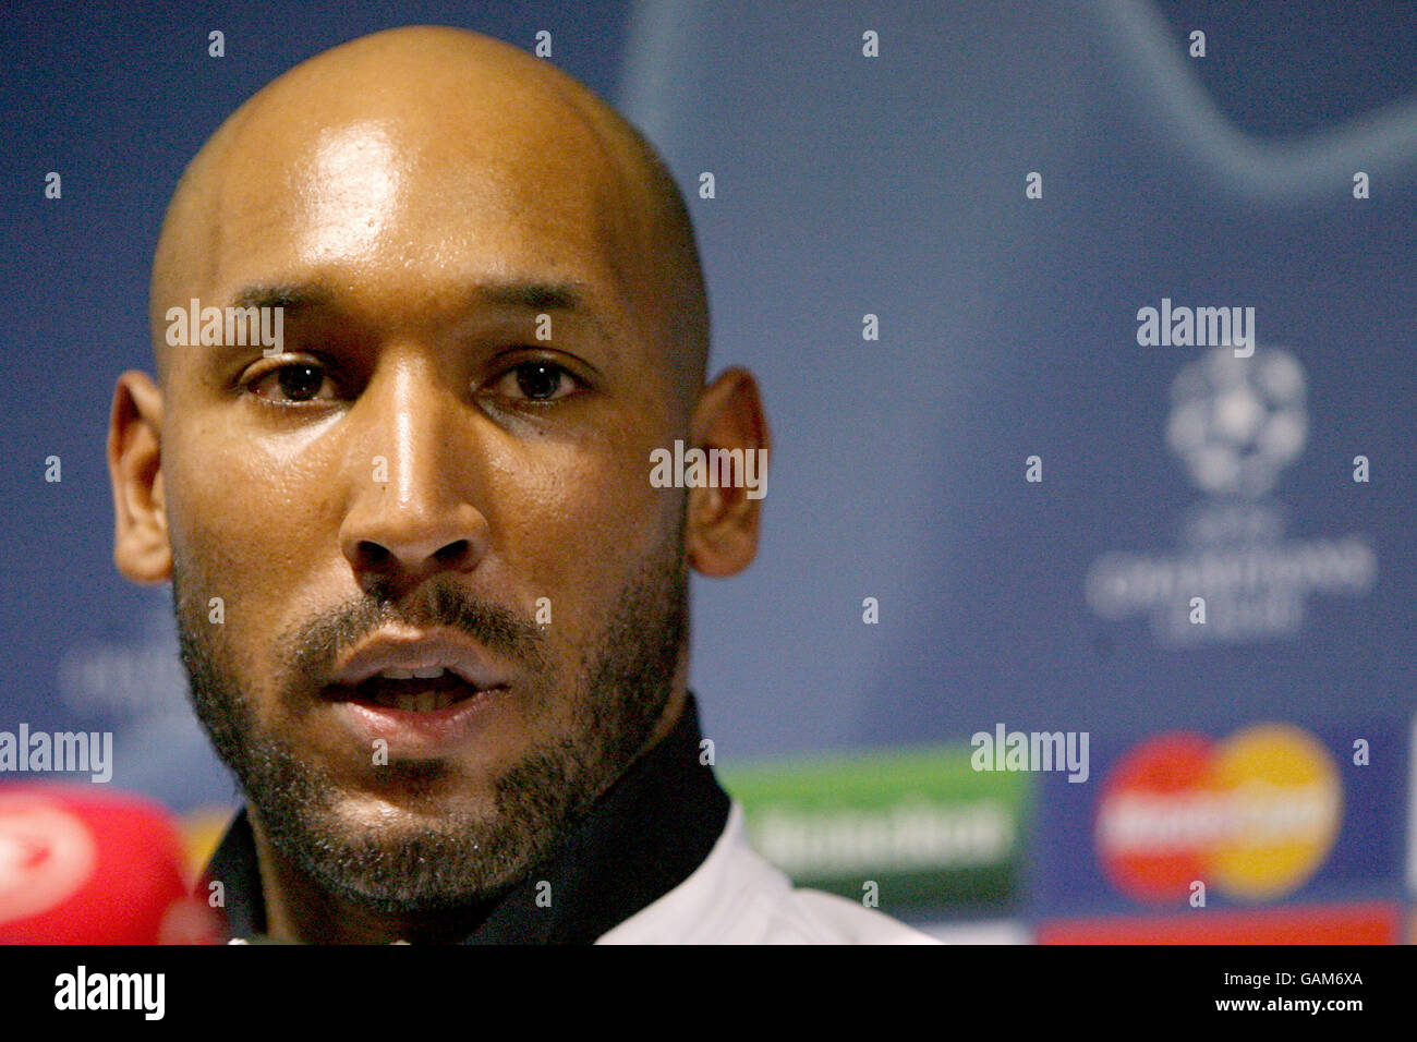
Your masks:
M 184 662 L 281 851 L 376 906 L 468 902 L 683 683 L 684 499 L 646 479 L 683 388 L 635 201 L 516 106 L 261 115 L 186 289 L 282 305 L 283 352 L 171 347 L 163 386 Z

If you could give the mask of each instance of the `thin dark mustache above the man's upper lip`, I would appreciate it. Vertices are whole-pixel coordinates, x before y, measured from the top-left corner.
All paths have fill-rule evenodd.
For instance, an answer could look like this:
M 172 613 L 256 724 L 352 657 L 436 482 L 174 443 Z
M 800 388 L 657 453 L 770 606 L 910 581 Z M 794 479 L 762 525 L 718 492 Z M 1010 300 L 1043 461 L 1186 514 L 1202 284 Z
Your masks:
M 296 676 L 327 676 L 343 652 L 394 624 L 459 629 L 495 655 L 533 672 L 546 668 L 546 634 L 540 625 L 445 586 L 408 604 L 370 594 L 323 611 L 279 641 L 281 658 Z

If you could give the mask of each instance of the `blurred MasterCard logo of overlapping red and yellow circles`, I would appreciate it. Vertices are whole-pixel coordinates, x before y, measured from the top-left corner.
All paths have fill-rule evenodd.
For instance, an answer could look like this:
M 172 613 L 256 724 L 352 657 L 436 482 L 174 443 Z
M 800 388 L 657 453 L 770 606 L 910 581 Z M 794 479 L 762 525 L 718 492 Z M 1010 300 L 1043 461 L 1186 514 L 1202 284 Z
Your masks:
M 1265 723 L 1223 741 L 1173 732 L 1138 746 L 1102 787 L 1094 835 L 1104 873 L 1129 897 L 1175 902 L 1200 880 L 1260 902 L 1318 872 L 1340 815 L 1328 750 Z

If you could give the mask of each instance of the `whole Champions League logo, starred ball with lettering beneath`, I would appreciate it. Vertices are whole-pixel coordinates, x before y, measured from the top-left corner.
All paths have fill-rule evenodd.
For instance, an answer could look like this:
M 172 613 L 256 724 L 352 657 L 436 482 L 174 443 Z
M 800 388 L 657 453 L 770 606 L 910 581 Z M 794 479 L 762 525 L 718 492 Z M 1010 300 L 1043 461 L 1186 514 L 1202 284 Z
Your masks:
M 1169 646 L 1294 637 L 1314 594 L 1359 597 L 1377 576 L 1362 534 L 1287 536 L 1268 496 L 1308 441 L 1304 367 L 1287 350 L 1216 347 L 1170 386 L 1166 444 L 1204 499 L 1163 550 L 1111 550 L 1088 568 L 1098 617 L 1149 617 Z

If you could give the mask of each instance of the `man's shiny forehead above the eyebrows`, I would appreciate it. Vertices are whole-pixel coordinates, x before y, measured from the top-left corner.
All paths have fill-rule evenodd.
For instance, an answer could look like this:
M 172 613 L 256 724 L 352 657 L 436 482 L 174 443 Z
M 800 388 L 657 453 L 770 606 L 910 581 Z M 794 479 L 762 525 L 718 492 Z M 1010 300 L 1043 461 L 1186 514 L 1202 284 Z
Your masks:
M 319 281 L 387 308 L 536 279 L 629 298 L 633 193 L 595 128 L 546 91 L 462 86 L 256 105 L 217 160 L 204 292 Z

